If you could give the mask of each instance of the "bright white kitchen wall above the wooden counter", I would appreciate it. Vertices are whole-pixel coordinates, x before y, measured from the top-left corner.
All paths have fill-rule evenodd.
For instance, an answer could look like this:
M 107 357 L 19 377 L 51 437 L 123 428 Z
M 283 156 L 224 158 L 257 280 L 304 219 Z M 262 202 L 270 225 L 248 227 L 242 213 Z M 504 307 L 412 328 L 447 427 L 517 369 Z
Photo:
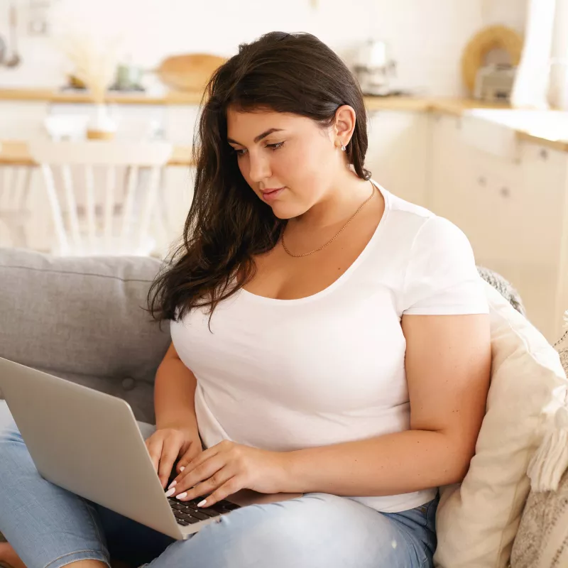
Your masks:
M 489 23 L 524 27 L 526 0 L 51 0 L 49 38 L 26 35 L 21 6 L 23 65 L 0 67 L 0 86 L 60 87 L 68 64 L 57 44 L 65 28 L 100 40 L 120 37 L 133 62 L 153 67 L 171 53 L 232 55 L 239 43 L 272 30 L 309 31 L 349 60 L 369 35 L 391 42 L 398 62 L 393 86 L 425 94 L 462 94 L 459 59 L 471 35 Z M 0 35 L 8 2 L 0 0 Z

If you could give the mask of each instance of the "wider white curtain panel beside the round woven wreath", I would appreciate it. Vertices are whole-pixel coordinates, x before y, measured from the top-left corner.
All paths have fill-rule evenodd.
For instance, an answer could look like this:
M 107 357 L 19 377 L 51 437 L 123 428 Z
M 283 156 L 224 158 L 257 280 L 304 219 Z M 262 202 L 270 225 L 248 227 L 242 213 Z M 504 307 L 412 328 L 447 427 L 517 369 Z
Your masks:
M 557 45 L 557 4 L 567 0 L 528 0 L 525 46 L 515 78 L 511 105 L 518 109 L 547 109 L 552 76 L 552 46 Z

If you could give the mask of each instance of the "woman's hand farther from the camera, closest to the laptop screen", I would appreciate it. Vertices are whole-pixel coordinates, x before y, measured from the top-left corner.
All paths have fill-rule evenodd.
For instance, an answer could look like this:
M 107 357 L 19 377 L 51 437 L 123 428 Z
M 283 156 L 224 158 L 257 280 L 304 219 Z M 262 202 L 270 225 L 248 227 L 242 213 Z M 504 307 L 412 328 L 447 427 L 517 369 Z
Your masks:
M 152 459 L 154 470 L 160 478 L 160 483 L 165 489 L 172 473 L 175 460 L 180 458 L 176 471 L 183 471 L 184 466 L 195 459 L 201 452 L 201 440 L 199 432 L 195 428 L 187 426 L 174 426 L 160 428 L 146 440 L 146 448 Z

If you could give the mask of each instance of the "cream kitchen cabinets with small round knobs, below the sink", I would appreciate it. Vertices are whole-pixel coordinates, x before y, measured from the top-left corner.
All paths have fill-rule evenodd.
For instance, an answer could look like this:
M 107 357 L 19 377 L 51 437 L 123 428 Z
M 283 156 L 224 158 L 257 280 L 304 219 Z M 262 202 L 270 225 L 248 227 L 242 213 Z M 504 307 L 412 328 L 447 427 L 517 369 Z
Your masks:
M 532 323 L 554 341 L 568 309 L 559 289 L 568 155 L 518 143 L 517 159 L 499 157 L 464 141 L 460 125 L 432 116 L 428 207 L 464 231 L 478 264 L 513 283 Z

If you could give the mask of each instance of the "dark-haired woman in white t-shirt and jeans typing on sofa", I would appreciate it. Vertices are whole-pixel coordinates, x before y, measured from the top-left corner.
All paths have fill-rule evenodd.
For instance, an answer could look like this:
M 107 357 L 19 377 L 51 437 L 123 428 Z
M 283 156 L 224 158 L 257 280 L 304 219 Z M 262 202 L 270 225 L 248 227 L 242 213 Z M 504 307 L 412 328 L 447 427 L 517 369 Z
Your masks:
M 149 296 L 173 342 L 146 443 L 182 501 L 303 496 L 235 510 L 150 566 L 430 567 L 437 487 L 464 477 L 488 389 L 469 242 L 371 180 L 359 86 L 313 35 L 241 45 L 205 101 L 184 241 Z M 91 506 L 65 498 L 77 518 Z M 34 566 L 107 565 L 97 514 L 67 540 L 53 520 L 56 554 Z

